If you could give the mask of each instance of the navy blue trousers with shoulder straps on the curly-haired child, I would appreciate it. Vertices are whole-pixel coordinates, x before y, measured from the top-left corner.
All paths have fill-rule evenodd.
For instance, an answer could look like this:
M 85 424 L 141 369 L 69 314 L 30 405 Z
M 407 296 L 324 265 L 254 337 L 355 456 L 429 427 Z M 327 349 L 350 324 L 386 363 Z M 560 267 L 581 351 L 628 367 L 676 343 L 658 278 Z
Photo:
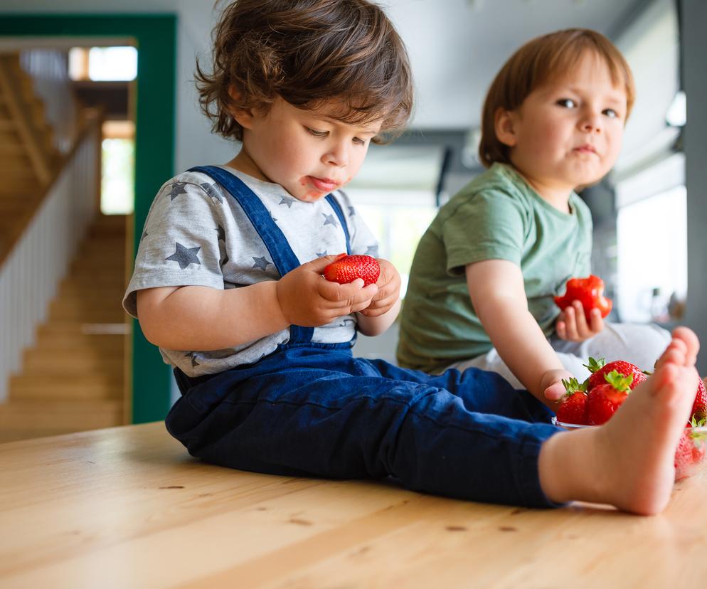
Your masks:
M 255 193 L 223 169 L 194 168 L 235 198 L 280 275 L 299 266 Z M 346 228 L 339 205 L 327 197 Z M 346 232 L 346 229 L 344 229 Z M 349 235 L 346 232 L 346 241 Z M 190 378 L 166 418 L 188 452 L 216 465 L 333 478 L 394 477 L 408 489 L 480 502 L 553 506 L 538 480 L 541 444 L 558 431 L 527 391 L 470 368 L 439 376 L 354 358 L 312 328 L 254 364 Z

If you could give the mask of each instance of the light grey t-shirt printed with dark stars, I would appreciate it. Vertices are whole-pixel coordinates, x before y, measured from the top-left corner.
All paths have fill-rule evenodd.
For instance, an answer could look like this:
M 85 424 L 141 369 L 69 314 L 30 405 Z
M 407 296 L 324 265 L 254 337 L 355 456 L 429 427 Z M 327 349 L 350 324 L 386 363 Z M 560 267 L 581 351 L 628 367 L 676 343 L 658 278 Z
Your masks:
M 257 194 L 301 263 L 346 251 L 344 229 L 326 199 L 299 201 L 279 184 L 221 167 Z M 356 214 L 349 197 L 341 191 L 333 196 L 346 217 L 351 253 L 377 257 L 376 238 Z M 137 291 L 145 288 L 197 285 L 230 289 L 279 278 L 265 243 L 238 201 L 211 176 L 185 172 L 167 181 L 152 202 L 123 307 L 137 317 Z M 312 341 L 346 342 L 355 331 L 356 317 L 347 315 L 315 328 Z M 228 349 L 160 348 L 160 352 L 167 364 L 188 376 L 201 376 L 250 364 L 288 340 L 289 329 L 285 329 Z

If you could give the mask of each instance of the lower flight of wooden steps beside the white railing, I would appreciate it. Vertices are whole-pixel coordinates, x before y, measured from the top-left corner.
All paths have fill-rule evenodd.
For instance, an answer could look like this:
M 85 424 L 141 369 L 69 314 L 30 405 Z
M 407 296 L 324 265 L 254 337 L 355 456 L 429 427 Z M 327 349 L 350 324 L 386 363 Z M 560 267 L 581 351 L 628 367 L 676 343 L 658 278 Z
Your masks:
M 0 442 L 124 423 L 126 217 L 99 215 L 0 404 Z

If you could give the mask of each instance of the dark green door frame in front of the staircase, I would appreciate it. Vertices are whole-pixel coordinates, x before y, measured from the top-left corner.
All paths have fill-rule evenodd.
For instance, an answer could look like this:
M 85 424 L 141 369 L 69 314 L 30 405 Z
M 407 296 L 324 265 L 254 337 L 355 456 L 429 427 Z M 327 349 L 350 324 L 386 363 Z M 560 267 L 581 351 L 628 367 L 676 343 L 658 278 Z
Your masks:
M 176 15 L 2 14 L 0 36 L 123 37 L 138 49 L 134 249 L 159 187 L 174 175 Z M 132 322 L 132 420 L 164 419 L 171 376 L 159 351 Z

